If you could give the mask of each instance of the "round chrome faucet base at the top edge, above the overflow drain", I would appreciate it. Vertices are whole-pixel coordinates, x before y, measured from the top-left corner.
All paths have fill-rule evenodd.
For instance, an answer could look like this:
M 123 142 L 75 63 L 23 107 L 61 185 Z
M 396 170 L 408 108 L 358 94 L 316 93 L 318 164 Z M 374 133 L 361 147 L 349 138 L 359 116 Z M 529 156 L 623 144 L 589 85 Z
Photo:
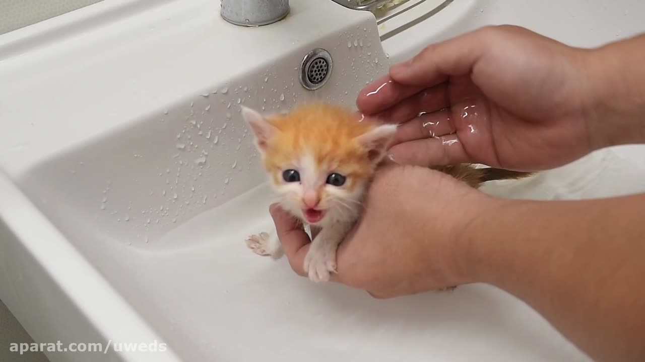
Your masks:
M 229 23 L 262 26 L 280 21 L 289 14 L 289 0 L 221 0 L 220 14 Z

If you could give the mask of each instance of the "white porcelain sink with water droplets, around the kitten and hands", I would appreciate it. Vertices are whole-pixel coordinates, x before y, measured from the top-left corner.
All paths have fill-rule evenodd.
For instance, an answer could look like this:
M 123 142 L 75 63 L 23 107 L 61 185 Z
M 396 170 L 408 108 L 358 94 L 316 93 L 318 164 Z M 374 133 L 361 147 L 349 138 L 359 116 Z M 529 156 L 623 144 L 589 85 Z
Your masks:
M 581 46 L 645 29 L 637 0 L 515 3 L 459 0 L 408 27 L 292 0 L 284 21 L 241 28 L 219 17 L 219 1 L 106 0 L 1 36 L 0 299 L 37 342 L 170 347 L 48 352 L 52 361 L 588 361 L 491 287 L 372 300 L 244 245 L 270 225 L 270 192 L 239 104 L 352 105 L 388 55 L 401 61 L 483 24 Z M 333 71 L 308 91 L 298 74 L 313 48 L 331 53 Z M 644 191 L 642 155 L 599 151 L 486 191 Z

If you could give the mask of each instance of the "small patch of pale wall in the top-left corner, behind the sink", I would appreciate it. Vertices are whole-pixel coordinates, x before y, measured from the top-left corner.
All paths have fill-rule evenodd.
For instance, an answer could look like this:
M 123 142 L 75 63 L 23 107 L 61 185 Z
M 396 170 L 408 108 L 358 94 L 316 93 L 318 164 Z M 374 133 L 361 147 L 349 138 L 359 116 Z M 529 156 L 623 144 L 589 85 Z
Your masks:
M 102 0 L 0 0 L 0 34 Z

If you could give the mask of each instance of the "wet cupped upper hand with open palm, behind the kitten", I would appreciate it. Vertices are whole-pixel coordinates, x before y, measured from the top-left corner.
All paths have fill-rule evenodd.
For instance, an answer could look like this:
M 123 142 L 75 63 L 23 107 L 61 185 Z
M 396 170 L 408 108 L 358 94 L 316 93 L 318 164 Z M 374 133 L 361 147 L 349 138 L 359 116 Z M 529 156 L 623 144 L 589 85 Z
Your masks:
M 402 124 L 392 157 L 422 166 L 562 166 L 600 148 L 588 50 L 515 26 L 428 46 L 373 82 L 359 111 Z

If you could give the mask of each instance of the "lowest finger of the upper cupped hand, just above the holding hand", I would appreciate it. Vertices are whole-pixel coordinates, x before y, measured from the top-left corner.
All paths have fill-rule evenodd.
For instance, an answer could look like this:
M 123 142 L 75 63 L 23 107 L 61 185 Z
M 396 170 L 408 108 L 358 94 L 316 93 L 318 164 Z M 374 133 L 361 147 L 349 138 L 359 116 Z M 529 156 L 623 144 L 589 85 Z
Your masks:
M 424 167 L 471 162 L 457 135 L 397 144 L 390 148 L 390 155 L 398 164 Z

